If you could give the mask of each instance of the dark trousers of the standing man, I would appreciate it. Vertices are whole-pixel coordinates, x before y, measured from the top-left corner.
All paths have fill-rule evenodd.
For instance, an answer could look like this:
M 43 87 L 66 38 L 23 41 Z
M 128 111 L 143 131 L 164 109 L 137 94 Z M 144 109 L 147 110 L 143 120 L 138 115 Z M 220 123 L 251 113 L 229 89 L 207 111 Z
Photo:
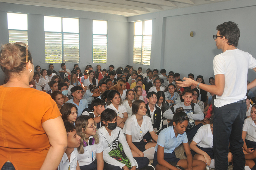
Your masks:
M 231 103 L 214 108 L 213 149 L 217 170 L 228 169 L 229 149 L 233 155 L 233 169 L 244 169 L 242 127 L 245 116 L 246 103 Z

